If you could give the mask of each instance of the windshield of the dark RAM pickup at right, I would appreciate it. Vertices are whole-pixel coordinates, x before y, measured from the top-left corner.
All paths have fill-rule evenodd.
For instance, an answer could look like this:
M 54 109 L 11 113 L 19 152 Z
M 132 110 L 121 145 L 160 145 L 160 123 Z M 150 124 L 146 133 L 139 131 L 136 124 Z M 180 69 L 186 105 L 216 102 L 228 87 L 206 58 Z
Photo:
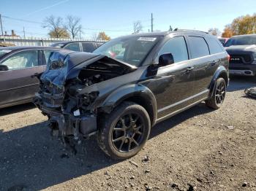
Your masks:
M 234 36 L 227 40 L 224 47 L 229 47 L 233 45 L 251 45 L 256 44 L 256 35 L 251 36 Z

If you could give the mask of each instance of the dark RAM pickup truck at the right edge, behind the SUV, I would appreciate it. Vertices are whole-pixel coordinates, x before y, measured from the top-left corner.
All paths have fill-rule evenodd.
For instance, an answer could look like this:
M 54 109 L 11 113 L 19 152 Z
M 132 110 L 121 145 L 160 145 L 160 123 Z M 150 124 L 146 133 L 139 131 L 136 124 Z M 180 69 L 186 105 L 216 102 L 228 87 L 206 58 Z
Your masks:
M 256 75 L 256 34 L 233 36 L 224 47 L 230 55 L 230 74 Z

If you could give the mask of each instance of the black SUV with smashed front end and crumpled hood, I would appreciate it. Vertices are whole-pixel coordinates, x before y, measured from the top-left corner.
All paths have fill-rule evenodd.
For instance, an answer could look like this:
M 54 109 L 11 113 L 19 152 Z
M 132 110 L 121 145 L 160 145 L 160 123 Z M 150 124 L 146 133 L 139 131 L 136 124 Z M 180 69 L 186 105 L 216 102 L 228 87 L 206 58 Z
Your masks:
M 228 84 L 227 52 L 200 31 L 123 36 L 92 54 L 60 51 L 49 59 L 34 103 L 50 128 L 69 143 L 97 134 L 115 159 L 138 153 L 167 117 L 202 101 L 218 109 Z

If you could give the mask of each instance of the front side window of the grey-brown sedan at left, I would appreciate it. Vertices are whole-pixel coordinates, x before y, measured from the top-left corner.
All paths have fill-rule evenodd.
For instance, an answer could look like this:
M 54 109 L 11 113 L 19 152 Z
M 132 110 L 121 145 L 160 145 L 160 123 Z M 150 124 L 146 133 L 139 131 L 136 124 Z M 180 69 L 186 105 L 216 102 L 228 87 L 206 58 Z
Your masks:
M 38 66 L 38 51 L 28 50 L 17 52 L 1 64 L 8 66 L 9 69 L 26 69 Z

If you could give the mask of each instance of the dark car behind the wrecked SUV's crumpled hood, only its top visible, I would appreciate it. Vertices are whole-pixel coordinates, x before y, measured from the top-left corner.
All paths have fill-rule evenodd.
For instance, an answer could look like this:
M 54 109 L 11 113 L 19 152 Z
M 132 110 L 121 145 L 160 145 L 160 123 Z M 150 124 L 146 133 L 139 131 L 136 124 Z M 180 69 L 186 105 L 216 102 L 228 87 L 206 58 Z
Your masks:
M 94 52 L 103 42 L 70 41 L 51 44 L 50 47 L 59 47 L 79 52 Z

